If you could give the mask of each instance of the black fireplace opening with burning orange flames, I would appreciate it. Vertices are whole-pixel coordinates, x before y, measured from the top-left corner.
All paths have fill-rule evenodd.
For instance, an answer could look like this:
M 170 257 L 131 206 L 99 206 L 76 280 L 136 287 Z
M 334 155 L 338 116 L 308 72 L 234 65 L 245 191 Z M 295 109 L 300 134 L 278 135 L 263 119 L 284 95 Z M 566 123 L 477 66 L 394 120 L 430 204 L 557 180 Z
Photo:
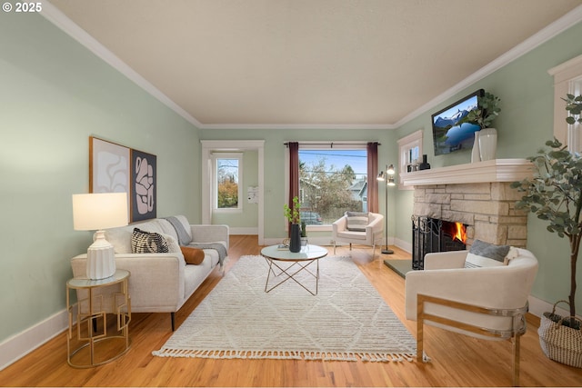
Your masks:
M 467 225 L 431 217 L 412 217 L 412 269 L 422 270 L 425 254 L 467 248 Z

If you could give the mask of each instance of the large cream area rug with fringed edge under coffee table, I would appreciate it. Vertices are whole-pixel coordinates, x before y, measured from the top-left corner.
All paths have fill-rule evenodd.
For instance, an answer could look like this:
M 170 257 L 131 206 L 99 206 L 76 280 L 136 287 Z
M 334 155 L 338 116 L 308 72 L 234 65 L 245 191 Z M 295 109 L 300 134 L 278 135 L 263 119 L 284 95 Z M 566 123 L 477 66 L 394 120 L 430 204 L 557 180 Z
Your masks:
M 312 264 L 315 271 L 315 264 Z M 416 340 L 349 258 L 320 260 L 319 292 L 265 292 L 262 256 L 243 256 L 153 354 L 161 357 L 412 361 Z M 315 286 L 315 279 L 305 279 Z

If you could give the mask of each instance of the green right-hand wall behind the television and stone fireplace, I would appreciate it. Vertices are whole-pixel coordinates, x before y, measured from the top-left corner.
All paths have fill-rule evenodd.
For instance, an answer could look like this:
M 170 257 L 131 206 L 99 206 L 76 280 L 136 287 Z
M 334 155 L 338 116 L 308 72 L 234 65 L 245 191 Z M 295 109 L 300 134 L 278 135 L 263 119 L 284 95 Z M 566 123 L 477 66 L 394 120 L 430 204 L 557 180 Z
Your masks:
M 582 23 L 569 28 L 543 45 L 467 87 L 448 101 L 431 108 L 397 129 L 401 138 L 424 129 L 424 153 L 431 167 L 470 162 L 470 150 L 435 156 L 430 114 L 447 104 L 483 88 L 501 98 L 501 114 L 492 125 L 497 128 L 497 158 L 525 158 L 553 138 L 554 80 L 547 70 L 582 54 Z M 396 237 L 411 242 L 410 214 L 412 192 L 397 196 Z M 569 293 L 569 247 L 546 230 L 546 223 L 528 217 L 527 248 L 536 254 L 539 272 L 532 294 L 548 303 L 567 299 Z M 582 284 L 582 267 L 578 264 L 577 284 Z M 577 293 L 577 311 L 582 311 L 582 291 Z

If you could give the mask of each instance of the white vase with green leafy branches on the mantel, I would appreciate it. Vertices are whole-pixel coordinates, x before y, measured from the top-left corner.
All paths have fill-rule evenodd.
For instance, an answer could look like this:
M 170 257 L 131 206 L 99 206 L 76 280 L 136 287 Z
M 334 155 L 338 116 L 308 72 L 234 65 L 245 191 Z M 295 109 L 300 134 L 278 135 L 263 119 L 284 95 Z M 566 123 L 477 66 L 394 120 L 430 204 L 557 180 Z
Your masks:
M 481 127 L 476 137 L 479 144 L 479 158 L 481 161 L 495 159 L 497 152 L 497 129 L 490 128 L 489 125 L 496 119 L 501 108 L 501 100 L 496 95 L 485 92 L 484 95 L 477 96 L 478 109 L 472 110 L 467 115 L 469 122 L 478 124 Z M 476 162 L 473 161 L 472 162 Z

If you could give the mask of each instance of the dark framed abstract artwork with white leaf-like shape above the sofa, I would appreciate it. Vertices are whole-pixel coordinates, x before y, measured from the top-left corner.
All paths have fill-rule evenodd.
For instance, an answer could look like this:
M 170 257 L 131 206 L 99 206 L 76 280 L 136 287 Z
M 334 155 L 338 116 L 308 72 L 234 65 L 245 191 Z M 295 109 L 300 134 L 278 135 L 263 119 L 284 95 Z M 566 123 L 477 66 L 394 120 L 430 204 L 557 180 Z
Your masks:
M 156 218 L 156 155 L 131 150 L 131 221 Z

